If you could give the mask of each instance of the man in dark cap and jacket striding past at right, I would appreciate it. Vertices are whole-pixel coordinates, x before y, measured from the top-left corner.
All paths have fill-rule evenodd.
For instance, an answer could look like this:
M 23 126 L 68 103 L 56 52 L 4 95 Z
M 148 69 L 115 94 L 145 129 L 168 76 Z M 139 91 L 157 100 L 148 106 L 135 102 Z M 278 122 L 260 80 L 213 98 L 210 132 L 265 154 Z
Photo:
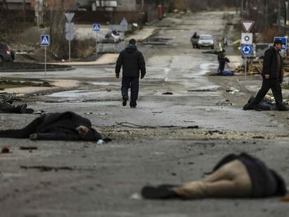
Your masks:
M 258 91 L 257 96 L 251 102 L 254 110 L 260 111 L 258 103 L 265 97 L 269 89 L 272 90 L 276 101 L 276 110 L 287 111 L 287 107 L 283 105 L 283 96 L 281 83 L 283 82 L 283 59 L 280 55 L 282 41 L 275 40 L 273 47 L 265 52 L 262 69 L 262 87 Z

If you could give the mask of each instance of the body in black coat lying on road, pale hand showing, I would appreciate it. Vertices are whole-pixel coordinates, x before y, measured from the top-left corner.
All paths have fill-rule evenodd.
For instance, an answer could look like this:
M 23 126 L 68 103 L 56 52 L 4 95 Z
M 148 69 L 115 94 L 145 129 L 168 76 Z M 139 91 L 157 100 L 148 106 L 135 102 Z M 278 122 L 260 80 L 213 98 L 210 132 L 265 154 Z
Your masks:
M 0 137 L 31 140 L 101 140 L 89 119 L 73 112 L 45 114 L 20 130 L 0 130 Z

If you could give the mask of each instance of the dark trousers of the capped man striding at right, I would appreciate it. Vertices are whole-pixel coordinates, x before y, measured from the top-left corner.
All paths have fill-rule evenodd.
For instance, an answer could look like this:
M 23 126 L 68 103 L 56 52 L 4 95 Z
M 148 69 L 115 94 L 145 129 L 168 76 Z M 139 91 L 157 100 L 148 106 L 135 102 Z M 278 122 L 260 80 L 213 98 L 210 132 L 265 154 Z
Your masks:
M 260 91 L 258 91 L 257 96 L 252 101 L 253 105 L 258 105 L 260 101 L 266 96 L 269 89 L 272 90 L 273 96 L 276 101 L 276 107 L 283 107 L 283 96 L 282 96 L 282 89 L 280 85 L 279 77 L 272 77 L 269 79 L 266 79 L 263 77 L 262 81 L 262 87 Z

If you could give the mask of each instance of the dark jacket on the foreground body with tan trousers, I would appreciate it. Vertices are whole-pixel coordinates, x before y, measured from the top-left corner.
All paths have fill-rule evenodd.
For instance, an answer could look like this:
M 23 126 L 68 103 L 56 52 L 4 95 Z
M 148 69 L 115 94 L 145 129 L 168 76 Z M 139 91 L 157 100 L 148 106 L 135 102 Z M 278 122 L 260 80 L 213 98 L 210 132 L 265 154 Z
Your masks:
M 252 183 L 251 197 L 286 195 L 286 184 L 282 177 L 269 169 L 261 160 L 246 153 L 239 154 L 239 156 L 235 154 L 225 156 L 216 164 L 213 171 L 232 160 L 240 160 L 246 166 Z

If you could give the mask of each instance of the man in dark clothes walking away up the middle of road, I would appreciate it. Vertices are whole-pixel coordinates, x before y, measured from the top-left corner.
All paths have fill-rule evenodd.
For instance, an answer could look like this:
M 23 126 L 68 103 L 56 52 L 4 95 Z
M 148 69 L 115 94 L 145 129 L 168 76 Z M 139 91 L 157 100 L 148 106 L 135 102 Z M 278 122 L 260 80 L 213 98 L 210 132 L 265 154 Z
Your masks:
M 144 78 L 146 73 L 145 61 L 142 52 L 135 46 L 135 39 L 129 40 L 129 45 L 122 50 L 115 66 L 115 76 L 119 78 L 122 66 L 121 95 L 122 105 L 126 106 L 128 100 L 128 89 L 131 88 L 131 107 L 137 105 L 139 80 Z

